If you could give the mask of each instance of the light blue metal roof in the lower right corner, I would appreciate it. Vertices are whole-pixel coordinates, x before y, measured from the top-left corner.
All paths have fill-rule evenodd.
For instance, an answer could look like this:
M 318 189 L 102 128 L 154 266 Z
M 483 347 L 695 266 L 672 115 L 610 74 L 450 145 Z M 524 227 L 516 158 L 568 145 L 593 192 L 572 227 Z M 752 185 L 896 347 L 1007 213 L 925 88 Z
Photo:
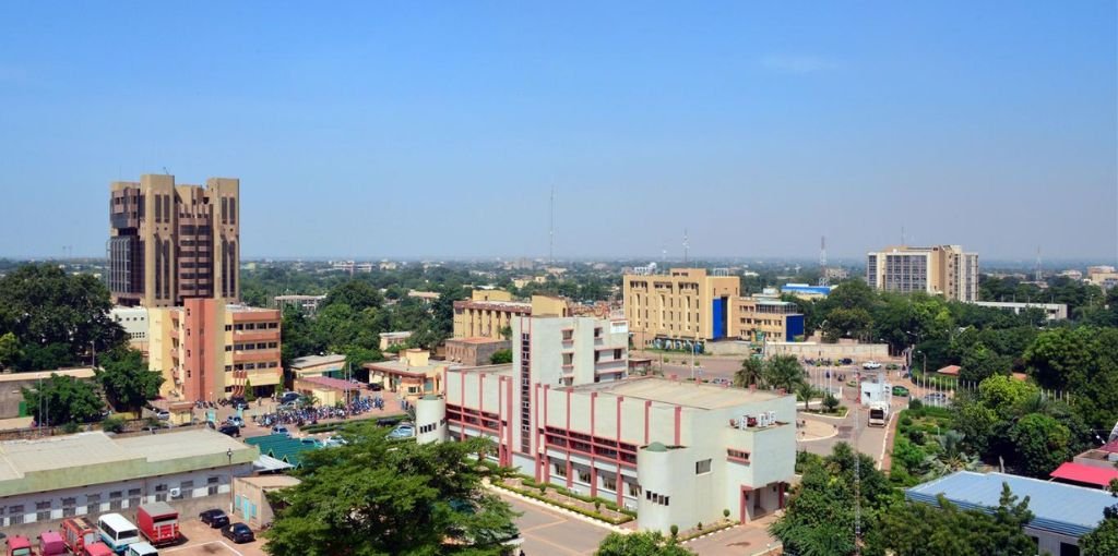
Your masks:
M 1002 497 L 1002 483 L 1008 483 L 1017 502 L 1029 497 L 1033 512 L 1030 527 L 1052 533 L 1081 537 L 1095 530 L 1102 520 L 1102 509 L 1118 502 L 1109 492 L 1099 489 L 1042 481 L 1006 473 L 976 473 L 956 471 L 906 490 L 909 500 L 935 505 L 944 495 L 951 504 L 965 509 L 991 511 Z

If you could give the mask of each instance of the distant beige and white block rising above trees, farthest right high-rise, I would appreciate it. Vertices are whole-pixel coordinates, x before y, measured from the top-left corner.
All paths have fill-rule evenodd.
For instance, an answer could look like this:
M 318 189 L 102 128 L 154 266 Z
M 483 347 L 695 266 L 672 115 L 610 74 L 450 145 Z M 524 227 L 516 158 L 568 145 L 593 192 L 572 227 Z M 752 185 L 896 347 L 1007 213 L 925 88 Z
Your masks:
M 978 253 L 961 246 L 893 246 L 866 253 L 865 281 L 884 290 L 926 291 L 947 299 L 978 300 Z

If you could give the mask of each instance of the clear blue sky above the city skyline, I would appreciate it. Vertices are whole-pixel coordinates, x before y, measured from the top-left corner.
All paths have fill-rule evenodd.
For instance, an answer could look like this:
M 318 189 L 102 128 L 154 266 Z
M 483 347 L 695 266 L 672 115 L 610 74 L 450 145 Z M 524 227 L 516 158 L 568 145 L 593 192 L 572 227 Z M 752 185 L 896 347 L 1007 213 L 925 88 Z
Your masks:
M 1118 252 L 1115 2 L 6 2 L 0 256 L 241 179 L 244 257 Z

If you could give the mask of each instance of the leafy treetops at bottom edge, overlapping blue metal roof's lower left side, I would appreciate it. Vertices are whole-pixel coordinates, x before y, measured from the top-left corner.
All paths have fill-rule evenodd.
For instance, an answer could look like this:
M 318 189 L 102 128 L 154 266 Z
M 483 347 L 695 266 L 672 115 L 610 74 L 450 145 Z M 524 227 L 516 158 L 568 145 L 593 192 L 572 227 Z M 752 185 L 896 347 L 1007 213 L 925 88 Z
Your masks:
M 1023 531 L 1031 519 L 1029 498 L 1017 502 L 1008 485 L 1003 485 L 993 514 L 960 510 L 942 497 L 938 507 L 904 502 L 881 516 L 875 548 L 897 556 L 1035 554 L 1035 545 Z

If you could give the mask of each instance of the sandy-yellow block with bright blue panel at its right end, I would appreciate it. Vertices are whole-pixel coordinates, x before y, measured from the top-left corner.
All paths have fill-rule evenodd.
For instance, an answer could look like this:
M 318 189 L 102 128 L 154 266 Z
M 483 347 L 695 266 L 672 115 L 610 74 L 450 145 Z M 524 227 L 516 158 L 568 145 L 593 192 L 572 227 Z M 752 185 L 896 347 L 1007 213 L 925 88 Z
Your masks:
M 741 295 L 737 276 L 711 276 L 701 268 L 643 270 L 625 275 L 623 284 L 634 346 L 680 348 L 733 334 L 731 313 Z

